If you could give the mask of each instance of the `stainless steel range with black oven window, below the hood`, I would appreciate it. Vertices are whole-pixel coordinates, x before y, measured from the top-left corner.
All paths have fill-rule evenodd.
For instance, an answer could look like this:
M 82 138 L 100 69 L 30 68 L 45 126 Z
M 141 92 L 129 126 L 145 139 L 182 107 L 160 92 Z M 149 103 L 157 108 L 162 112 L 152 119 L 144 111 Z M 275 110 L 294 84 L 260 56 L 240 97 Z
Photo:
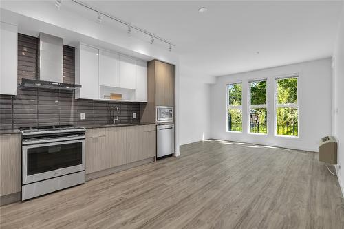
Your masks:
M 21 129 L 21 200 L 85 183 L 85 131 L 72 126 Z

